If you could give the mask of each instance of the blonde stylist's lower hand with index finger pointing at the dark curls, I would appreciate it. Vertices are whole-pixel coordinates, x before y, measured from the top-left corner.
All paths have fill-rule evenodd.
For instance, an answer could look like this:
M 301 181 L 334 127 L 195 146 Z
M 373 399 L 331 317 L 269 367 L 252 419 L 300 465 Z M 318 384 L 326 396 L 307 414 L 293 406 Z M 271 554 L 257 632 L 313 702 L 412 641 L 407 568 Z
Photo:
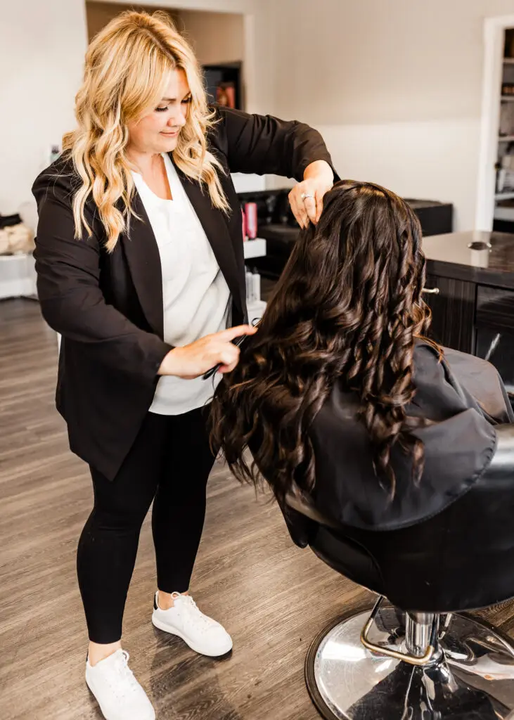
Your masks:
M 159 375 L 176 375 L 186 380 L 203 375 L 212 367 L 221 364 L 220 372 L 231 372 L 239 362 L 239 348 L 231 341 L 242 335 L 253 335 L 257 328 L 238 325 L 200 338 L 194 343 L 173 348 L 165 356 L 159 368 Z

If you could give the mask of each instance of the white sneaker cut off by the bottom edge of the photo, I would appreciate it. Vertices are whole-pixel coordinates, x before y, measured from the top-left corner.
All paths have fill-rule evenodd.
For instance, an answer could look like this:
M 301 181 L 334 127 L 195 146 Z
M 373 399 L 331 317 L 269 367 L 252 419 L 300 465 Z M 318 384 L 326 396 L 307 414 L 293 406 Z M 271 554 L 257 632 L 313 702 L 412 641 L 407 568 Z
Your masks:
M 128 666 L 129 654 L 117 650 L 94 667 L 86 661 L 86 683 L 106 720 L 155 720 L 145 690 Z

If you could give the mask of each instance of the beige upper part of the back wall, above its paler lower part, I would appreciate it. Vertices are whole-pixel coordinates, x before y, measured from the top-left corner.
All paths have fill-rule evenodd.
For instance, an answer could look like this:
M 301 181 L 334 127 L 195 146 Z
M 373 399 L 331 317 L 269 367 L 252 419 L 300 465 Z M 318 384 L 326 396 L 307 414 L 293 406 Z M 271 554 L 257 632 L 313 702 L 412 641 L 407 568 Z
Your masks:
M 315 123 L 478 117 L 483 24 L 514 0 L 276 3 L 277 109 Z

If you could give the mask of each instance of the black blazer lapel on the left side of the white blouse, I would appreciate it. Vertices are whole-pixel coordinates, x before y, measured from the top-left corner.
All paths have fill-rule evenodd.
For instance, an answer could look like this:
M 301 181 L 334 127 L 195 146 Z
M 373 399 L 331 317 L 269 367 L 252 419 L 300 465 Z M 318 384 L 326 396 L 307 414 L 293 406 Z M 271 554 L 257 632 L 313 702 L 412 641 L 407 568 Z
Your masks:
M 145 206 L 137 190 L 132 207 L 140 220 L 130 216 L 130 234 L 123 246 L 140 305 L 150 328 L 160 338 L 164 335 L 163 276 L 161 256 Z

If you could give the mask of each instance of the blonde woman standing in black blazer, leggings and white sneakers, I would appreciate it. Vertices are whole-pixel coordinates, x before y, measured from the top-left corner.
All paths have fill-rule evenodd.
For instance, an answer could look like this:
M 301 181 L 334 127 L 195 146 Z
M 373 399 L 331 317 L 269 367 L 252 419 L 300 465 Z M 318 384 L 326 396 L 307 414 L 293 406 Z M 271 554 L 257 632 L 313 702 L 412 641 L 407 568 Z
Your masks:
M 86 682 L 108 720 L 145 720 L 155 714 L 120 639 L 152 500 L 153 624 L 202 654 L 232 647 L 187 594 L 214 462 L 202 410 L 213 387 L 201 376 L 217 363 L 230 372 L 230 341 L 253 332 L 241 325 L 243 240 L 229 173 L 295 177 L 290 201 L 305 226 L 333 171 L 307 125 L 208 109 L 197 60 L 166 15 L 126 12 L 96 36 L 76 119 L 33 188 L 38 292 L 63 338 L 58 410 L 94 485 L 77 561 Z

